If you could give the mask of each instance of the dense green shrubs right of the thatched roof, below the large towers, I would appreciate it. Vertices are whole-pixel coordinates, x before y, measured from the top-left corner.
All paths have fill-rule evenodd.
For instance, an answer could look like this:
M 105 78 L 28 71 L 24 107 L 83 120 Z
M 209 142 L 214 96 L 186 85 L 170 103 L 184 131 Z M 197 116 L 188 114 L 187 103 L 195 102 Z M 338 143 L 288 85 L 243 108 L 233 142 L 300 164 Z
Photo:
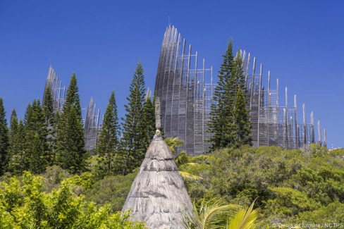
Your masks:
M 250 205 L 256 199 L 258 228 L 272 223 L 344 223 L 344 150 L 279 147 L 222 149 L 197 157 L 180 155 L 179 168 L 196 204 L 225 199 Z

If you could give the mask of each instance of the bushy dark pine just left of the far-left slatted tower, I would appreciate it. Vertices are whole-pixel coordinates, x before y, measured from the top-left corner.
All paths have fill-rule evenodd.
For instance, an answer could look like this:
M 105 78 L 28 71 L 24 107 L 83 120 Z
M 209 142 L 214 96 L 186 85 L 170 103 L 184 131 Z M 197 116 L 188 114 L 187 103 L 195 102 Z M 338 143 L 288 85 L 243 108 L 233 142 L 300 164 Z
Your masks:
M 45 122 L 44 111 L 39 102 L 35 99 L 32 102 L 27 120 L 25 123 L 25 160 L 27 168 L 32 173 L 43 173 L 49 161 L 47 151 L 47 123 Z

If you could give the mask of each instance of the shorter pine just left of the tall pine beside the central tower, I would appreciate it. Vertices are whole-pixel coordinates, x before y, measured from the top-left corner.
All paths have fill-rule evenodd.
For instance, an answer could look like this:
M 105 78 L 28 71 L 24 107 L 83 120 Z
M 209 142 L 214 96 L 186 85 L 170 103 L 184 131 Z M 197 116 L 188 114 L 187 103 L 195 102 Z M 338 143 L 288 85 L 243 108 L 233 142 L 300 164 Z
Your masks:
M 119 171 L 120 161 L 116 159 L 118 156 L 118 135 L 119 124 L 117 115 L 117 104 L 115 92 L 111 92 L 109 104 L 103 118 L 102 130 L 99 134 L 99 140 L 96 146 L 98 154 L 97 175 L 103 178 L 106 175 L 114 175 L 121 173 Z

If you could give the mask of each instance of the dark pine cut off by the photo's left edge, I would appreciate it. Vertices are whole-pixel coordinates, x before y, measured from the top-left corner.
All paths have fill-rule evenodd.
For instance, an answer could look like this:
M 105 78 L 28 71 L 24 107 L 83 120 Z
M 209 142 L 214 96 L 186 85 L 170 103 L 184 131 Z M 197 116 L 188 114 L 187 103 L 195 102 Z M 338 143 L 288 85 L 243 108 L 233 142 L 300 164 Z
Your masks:
M 4 175 L 8 166 L 8 128 L 4 101 L 0 98 L 0 175 Z

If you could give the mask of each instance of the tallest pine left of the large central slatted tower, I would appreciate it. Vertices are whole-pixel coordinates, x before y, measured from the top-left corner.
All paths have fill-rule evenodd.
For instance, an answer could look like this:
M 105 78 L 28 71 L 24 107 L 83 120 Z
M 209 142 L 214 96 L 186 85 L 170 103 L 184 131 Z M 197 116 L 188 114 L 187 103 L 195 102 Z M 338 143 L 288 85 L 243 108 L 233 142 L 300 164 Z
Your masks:
M 121 159 L 123 160 L 123 174 L 130 173 L 140 166 L 145 154 L 142 153 L 140 137 L 140 122 L 143 103 L 145 101 L 145 78 L 141 63 L 137 64 L 133 80 L 130 85 L 128 105 L 125 105 L 125 119 L 123 123 L 123 137 L 121 139 Z

